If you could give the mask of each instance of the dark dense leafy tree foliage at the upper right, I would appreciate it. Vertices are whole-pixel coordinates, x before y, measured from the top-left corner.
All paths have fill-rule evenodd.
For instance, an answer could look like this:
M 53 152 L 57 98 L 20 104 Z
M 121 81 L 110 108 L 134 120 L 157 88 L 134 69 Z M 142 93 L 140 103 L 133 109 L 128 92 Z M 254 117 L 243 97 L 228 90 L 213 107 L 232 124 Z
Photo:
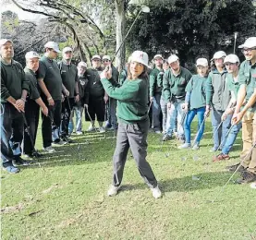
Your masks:
M 141 16 L 140 26 L 130 35 L 130 51 L 136 46 L 151 56 L 178 53 L 182 61 L 194 63 L 199 56 L 209 59 L 216 50 L 231 52 L 233 42 L 226 42 L 233 40 L 235 31 L 239 32 L 238 42 L 243 42 L 248 32 L 255 35 L 251 0 L 151 3 L 151 14 Z

